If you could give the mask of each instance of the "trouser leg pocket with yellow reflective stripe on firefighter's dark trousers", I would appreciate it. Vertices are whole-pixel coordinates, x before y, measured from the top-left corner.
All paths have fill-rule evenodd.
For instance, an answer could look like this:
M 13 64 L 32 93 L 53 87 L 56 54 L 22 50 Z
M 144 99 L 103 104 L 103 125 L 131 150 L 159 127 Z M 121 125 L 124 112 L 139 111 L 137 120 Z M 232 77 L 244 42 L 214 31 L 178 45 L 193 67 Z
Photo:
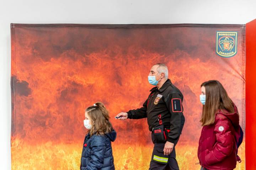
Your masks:
M 169 160 L 169 155 L 164 155 L 164 145 L 165 143 L 155 143 L 151 161 L 167 164 Z

